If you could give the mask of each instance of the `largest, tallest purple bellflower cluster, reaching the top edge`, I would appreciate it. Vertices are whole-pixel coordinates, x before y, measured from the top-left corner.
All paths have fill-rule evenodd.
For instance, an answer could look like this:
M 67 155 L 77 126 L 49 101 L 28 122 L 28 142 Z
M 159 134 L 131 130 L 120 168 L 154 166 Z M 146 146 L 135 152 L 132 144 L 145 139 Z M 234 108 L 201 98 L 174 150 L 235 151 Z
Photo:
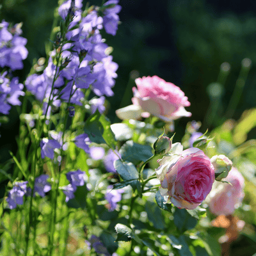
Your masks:
M 104 43 L 100 30 L 103 25 L 108 33 L 114 35 L 117 29 L 120 6 L 118 1 L 108 1 L 103 9 L 95 8 L 82 17 L 82 1 L 65 1 L 59 8 L 60 16 L 67 29 L 57 35 L 56 49 L 51 52 L 49 62 L 43 74 L 32 74 L 26 79 L 26 87 L 36 99 L 44 101 L 44 113 L 48 108 L 60 107 L 61 101 L 82 106 L 84 89 L 92 86 L 99 99 L 88 102 L 92 105 L 92 113 L 99 109 L 104 111 L 104 97 L 112 96 L 111 88 L 118 65 L 108 54 L 108 45 Z M 110 4 L 110 5 L 109 5 Z M 109 6 L 109 7 L 108 7 Z M 100 13 L 104 17 L 100 17 Z M 64 26 L 64 25 L 63 25 Z M 114 27 L 110 29 L 111 27 Z

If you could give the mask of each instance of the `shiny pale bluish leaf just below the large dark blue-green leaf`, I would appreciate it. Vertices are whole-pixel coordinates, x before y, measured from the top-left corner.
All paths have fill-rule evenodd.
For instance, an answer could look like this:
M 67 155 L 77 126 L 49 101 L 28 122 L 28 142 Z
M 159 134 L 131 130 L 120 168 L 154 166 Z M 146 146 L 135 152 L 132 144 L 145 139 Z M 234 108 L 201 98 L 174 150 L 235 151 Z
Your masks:
M 114 166 L 123 180 L 139 179 L 139 173 L 134 164 L 125 163 L 118 159 L 114 162 Z

